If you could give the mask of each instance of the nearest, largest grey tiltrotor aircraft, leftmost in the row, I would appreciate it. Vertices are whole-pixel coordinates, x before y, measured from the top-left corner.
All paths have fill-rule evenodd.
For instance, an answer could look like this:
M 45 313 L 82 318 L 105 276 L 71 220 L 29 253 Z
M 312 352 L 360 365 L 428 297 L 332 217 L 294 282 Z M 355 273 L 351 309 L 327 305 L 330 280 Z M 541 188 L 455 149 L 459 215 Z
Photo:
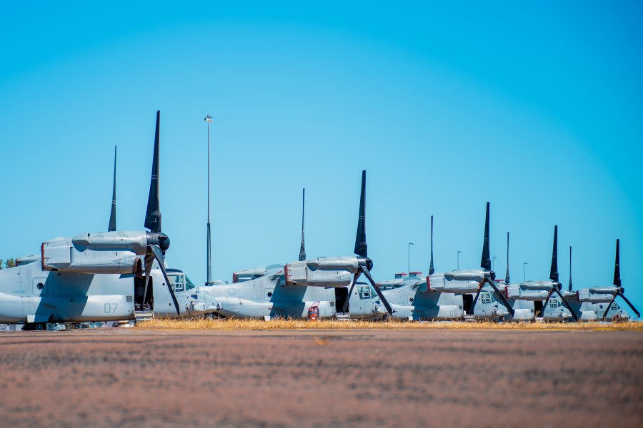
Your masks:
M 180 271 L 171 272 L 170 280 L 164 267 L 169 237 L 161 232 L 159 210 L 159 120 L 157 111 L 145 216 L 149 232 L 116 231 L 114 184 L 109 231 L 45 241 L 38 255 L 0 270 L 0 322 L 43 330 L 46 322 L 133 320 L 135 303 L 150 302 L 155 315 L 171 317 L 203 309 L 195 290 L 179 294 L 167 286 L 189 280 Z

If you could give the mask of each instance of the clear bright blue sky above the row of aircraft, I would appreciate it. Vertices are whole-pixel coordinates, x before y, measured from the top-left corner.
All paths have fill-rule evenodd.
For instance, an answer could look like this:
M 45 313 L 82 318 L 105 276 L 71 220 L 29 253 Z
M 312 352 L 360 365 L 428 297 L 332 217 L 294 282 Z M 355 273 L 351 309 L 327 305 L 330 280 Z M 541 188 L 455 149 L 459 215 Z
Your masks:
M 214 277 L 350 255 L 367 169 L 374 275 L 477 267 L 484 203 L 504 277 L 559 270 L 643 310 L 643 13 L 632 1 L 3 2 L 0 258 L 140 230 L 154 113 L 168 262 L 205 280 L 206 124 Z

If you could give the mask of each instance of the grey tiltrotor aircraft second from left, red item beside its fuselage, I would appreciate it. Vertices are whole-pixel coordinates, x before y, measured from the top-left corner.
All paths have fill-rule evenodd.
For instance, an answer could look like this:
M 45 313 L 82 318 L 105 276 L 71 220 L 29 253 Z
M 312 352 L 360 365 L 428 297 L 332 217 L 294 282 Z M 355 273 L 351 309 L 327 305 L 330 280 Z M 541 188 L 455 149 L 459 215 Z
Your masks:
M 373 261 L 367 256 L 365 192 L 366 171 L 362 171 L 354 248 L 357 257 L 304 260 L 302 218 L 299 261 L 235 272 L 232 284 L 205 287 L 206 300 L 214 302 L 216 307 L 214 312 L 224 317 L 266 320 L 274 317 L 304 318 L 311 308 L 318 310 L 321 318 L 346 312 L 354 318 L 378 318 L 391 314 L 390 305 L 370 274 Z M 362 274 L 372 287 L 357 283 Z M 348 286 L 350 290 L 347 290 Z

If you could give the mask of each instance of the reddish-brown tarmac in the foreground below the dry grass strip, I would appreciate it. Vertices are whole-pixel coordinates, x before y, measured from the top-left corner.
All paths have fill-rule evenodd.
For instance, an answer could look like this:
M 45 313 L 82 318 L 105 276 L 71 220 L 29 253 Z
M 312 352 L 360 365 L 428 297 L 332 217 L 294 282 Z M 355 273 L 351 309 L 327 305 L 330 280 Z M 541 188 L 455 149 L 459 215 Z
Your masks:
M 0 333 L 4 427 L 643 427 L 640 331 Z

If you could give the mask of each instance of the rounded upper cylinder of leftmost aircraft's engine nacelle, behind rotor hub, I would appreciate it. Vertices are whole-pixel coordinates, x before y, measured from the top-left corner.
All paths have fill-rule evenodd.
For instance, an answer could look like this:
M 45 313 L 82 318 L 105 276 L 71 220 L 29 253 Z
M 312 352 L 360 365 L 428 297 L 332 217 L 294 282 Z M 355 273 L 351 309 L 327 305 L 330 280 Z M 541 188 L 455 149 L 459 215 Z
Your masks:
M 136 255 L 144 255 L 148 245 L 159 245 L 162 251 L 169 248 L 167 235 L 154 232 L 81 233 L 71 243 L 79 251 L 131 251 Z

